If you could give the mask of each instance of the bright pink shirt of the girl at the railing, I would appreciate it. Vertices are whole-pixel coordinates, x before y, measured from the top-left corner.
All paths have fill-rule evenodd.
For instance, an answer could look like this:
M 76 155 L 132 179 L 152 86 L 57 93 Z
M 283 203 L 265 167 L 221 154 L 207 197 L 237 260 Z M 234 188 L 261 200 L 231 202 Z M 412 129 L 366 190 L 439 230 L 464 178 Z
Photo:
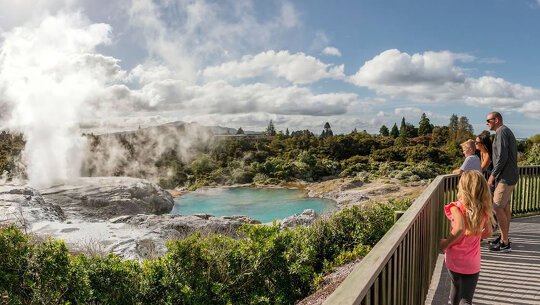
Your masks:
M 459 201 L 451 202 L 444 206 L 444 213 L 450 219 L 452 228 L 455 225 L 454 218 L 450 208 L 457 207 L 465 217 L 466 211 L 463 204 Z M 446 268 L 448 270 L 461 274 L 475 274 L 480 272 L 480 235 L 468 235 L 465 233 L 446 249 L 444 254 Z

